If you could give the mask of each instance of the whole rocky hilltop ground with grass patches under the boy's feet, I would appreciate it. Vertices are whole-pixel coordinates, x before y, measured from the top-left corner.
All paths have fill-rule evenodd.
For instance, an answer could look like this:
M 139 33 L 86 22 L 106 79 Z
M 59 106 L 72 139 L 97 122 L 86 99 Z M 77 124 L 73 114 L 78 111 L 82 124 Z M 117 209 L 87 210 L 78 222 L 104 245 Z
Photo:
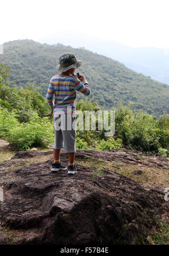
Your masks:
M 0 245 L 168 244 L 168 157 L 119 148 L 76 157 L 75 175 L 51 172 L 52 151 L 17 152 L 0 164 Z

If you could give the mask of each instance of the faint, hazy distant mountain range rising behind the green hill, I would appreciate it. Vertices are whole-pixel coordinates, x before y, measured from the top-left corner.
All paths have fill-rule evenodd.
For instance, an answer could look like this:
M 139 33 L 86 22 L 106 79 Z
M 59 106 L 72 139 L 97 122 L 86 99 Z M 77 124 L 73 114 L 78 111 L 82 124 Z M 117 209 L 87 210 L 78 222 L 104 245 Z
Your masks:
M 169 48 L 159 49 L 155 47 L 130 47 L 114 40 L 101 39 L 76 32 L 76 37 L 69 33 L 59 32 L 57 36 L 51 34 L 48 37 L 39 38 L 38 42 L 50 45 L 56 42 L 72 47 L 83 46 L 87 50 L 97 52 L 108 58 L 118 60 L 126 67 L 150 76 L 152 79 L 169 84 Z

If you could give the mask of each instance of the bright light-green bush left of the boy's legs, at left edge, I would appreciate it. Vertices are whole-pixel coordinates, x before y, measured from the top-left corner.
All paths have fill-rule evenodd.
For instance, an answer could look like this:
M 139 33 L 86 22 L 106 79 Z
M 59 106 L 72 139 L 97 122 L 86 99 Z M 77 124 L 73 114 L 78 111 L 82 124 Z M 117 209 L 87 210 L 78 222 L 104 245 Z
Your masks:
M 41 118 L 37 113 L 29 122 L 19 123 L 15 112 L 0 108 L 0 136 L 17 150 L 47 147 L 54 140 L 54 127 L 47 117 Z

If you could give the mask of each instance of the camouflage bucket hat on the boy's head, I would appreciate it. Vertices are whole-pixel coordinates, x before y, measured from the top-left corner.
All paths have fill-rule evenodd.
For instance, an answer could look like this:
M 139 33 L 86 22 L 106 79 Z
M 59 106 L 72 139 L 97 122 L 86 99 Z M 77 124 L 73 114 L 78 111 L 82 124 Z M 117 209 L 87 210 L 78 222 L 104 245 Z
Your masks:
M 59 65 L 56 66 L 56 70 L 65 72 L 70 68 L 79 68 L 81 64 L 82 60 L 77 60 L 71 52 L 65 52 L 65 54 L 59 57 Z

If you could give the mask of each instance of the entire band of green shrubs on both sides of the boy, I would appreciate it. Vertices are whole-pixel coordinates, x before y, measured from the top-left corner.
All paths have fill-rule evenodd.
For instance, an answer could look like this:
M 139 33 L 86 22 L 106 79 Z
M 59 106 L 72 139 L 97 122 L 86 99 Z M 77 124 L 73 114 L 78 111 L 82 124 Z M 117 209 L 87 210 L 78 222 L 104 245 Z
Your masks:
M 44 117 L 50 112 L 46 99 L 36 91 L 35 84 L 29 82 L 20 90 L 7 82 L 10 67 L 0 64 L 0 138 L 6 139 L 17 150 L 32 147 L 46 148 L 54 141 L 52 117 Z M 77 110 L 98 111 L 96 101 L 81 99 Z M 134 111 L 132 102 L 124 106 L 119 101 L 115 111 L 115 134 L 104 136 L 104 129 L 77 131 L 77 148 L 112 149 L 130 148 L 137 151 L 169 156 L 169 115 L 154 117 L 140 109 Z M 91 120 L 90 120 L 91 121 Z

